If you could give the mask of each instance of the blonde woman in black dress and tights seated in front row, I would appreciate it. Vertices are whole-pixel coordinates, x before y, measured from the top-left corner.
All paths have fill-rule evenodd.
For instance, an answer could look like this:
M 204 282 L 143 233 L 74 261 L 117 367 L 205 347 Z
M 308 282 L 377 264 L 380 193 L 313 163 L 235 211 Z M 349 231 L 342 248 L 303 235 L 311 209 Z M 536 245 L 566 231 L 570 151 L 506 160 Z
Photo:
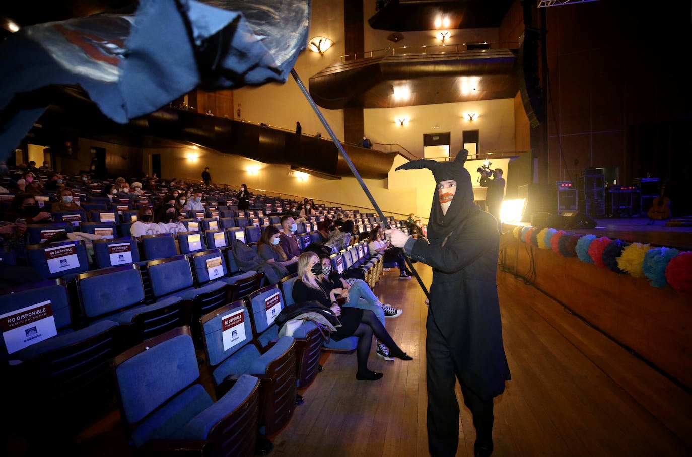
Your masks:
M 314 252 L 300 254 L 298 257 L 298 278 L 298 281 L 293 284 L 293 301 L 295 303 L 317 301 L 325 308 L 330 308 L 338 316 L 341 323 L 336 332 L 331 334 L 334 341 L 340 341 L 350 336 L 358 337 L 356 380 L 375 381 L 383 376 L 382 373 L 375 373 L 367 368 L 367 356 L 370 354 L 372 335 L 375 335 L 378 341 L 390 348 L 390 356 L 401 360 L 413 360 L 413 357 L 401 351 L 401 348 L 397 346 L 387 329 L 371 310 L 350 306 L 341 308 L 338 305 L 336 295 L 343 292 L 343 289 L 333 289 L 331 283 L 324 278 L 322 264 L 317 254 Z

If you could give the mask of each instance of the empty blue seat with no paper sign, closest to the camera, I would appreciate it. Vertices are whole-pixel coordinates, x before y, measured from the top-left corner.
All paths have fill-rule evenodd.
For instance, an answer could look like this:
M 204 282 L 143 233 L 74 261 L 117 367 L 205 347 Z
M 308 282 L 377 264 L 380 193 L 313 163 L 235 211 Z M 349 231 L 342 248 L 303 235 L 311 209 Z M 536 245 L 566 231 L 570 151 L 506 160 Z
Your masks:
M 200 382 L 189 327 L 170 330 L 116 357 L 113 377 L 131 446 L 140 454 L 149 454 L 152 440 L 165 440 L 170 451 L 192 447 L 211 456 L 254 454 L 260 381 L 242 375 L 214 402 Z

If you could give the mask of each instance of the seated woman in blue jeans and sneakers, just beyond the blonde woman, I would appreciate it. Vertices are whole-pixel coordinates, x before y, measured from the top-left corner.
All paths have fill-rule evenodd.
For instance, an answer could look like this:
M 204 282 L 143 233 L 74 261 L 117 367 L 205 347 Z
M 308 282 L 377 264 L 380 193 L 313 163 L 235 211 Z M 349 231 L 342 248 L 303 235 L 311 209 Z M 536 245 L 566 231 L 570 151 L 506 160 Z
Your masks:
M 385 317 L 399 317 L 403 313 L 403 310 L 383 304 L 363 279 L 349 279 L 347 281 L 342 274 L 332 270 L 329 257 L 320 255 L 320 262 L 322 263 L 322 277 L 331 283 L 332 290 L 341 289 L 340 295 L 346 299 L 343 306 L 371 310 L 383 326 L 385 325 Z M 393 357 L 390 357 L 387 346 L 381 342 L 377 342 L 376 353 L 384 360 L 394 360 Z

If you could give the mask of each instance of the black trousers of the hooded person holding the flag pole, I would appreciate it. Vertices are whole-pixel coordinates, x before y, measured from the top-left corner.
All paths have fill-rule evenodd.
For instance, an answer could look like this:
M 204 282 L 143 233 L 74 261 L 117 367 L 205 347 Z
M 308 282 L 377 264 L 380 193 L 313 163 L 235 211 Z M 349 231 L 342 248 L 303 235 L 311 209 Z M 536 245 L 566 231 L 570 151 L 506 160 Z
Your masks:
M 462 367 L 455 364 L 451 348 L 428 311 L 426 324 L 428 380 L 428 451 L 433 457 L 454 456 L 459 447 L 459 402 L 454 392 L 456 380 L 462 387 L 464 404 L 471 410 L 477 440 L 492 442 L 493 399 L 484 400 L 462 382 Z

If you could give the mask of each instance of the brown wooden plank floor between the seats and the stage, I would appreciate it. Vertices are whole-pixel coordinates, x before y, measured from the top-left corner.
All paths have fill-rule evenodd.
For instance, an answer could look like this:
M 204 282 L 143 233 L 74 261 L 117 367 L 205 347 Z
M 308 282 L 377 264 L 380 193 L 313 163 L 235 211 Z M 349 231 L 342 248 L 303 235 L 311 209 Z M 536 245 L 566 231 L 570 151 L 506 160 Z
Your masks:
M 415 266 L 429 284 L 430 268 Z M 387 327 L 415 360 L 385 362 L 373 348 L 370 369 L 385 375 L 359 382 L 354 354 L 324 353 L 324 371 L 302 389 L 304 404 L 270 437 L 270 456 L 428 455 L 427 308 L 415 279 L 398 276 L 385 272 L 375 292 L 384 303 L 404 309 L 387 319 Z M 512 380 L 495 398 L 493 456 L 692 455 L 690 393 L 511 274 L 498 274 L 498 291 Z M 200 368 L 206 372 L 206 366 Z M 629 393 L 641 389 L 646 399 Z M 457 398 L 462 403 L 458 386 Z M 463 404 L 460 425 L 457 456 L 473 456 L 475 431 Z M 53 453 L 129 455 L 115 402 L 69 441 L 67 449 L 52 447 Z M 4 440 L 2 454 L 33 455 L 31 443 L 24 435 L 12 436 Z

